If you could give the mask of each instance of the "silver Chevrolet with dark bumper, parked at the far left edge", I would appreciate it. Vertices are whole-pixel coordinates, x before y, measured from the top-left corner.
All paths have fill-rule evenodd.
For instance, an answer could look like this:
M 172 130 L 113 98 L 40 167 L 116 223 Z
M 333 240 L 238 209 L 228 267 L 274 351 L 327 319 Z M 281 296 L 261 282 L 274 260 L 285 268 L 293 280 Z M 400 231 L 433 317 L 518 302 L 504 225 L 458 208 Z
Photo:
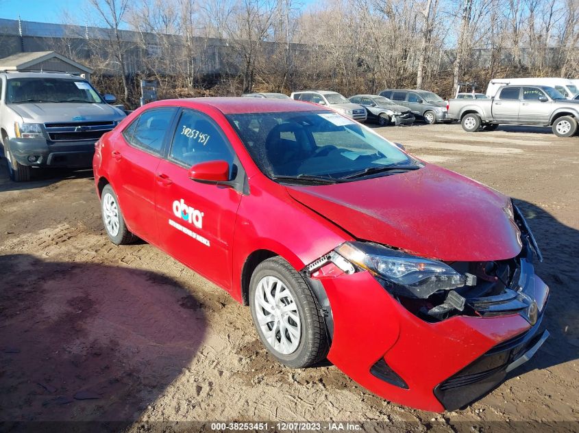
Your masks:
M 0 73 L 0 135 L 13 181 L 32 168 L 90 167 L 95 142 L 125 113 L 81 77 Z

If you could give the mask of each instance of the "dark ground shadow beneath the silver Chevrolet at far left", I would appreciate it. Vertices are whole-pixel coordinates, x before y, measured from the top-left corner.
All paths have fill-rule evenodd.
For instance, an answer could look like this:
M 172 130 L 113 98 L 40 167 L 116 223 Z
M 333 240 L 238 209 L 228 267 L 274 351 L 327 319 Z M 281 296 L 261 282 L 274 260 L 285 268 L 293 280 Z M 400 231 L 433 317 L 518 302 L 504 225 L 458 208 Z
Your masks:
M 58 183 L 66 179 L 90 179 L 92 177 L 92 168 L 34 168 L 30 174 L 30 181 L 14 182 L 8 175 L 6 159 L 0 156 L 0 192 L 35 189 Z

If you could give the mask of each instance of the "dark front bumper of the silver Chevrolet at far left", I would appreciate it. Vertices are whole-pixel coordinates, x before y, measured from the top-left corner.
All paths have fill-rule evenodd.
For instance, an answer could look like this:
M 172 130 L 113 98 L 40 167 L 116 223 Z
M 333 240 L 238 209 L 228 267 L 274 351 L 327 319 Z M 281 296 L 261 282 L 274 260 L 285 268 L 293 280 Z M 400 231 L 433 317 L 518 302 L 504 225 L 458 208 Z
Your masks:
M 23 166 L 85 168 L 92 165 L 96 141 L 49 142 L 43 138 L 11 138 L 8 146 L 10 155 Z

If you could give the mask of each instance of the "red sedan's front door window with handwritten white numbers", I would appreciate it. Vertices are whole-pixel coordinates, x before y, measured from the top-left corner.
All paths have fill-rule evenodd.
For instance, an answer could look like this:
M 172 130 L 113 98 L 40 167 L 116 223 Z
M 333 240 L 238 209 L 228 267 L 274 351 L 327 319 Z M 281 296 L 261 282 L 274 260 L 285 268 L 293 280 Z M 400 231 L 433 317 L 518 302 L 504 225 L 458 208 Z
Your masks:
M 187 167 L 217 160 L 233 166 L 234 154 L 217 124 L 205 114 L 186 110 L 177 122 L 169 159 Z

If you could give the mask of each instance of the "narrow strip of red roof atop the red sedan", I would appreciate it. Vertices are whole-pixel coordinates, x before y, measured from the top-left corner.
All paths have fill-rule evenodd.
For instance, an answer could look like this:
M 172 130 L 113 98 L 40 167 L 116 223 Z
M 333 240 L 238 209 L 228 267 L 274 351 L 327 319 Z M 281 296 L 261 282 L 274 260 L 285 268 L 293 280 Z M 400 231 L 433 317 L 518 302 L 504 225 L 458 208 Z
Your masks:
M 199 105 L 206 105 L 219 109 L 223 114 L 245 114 L 245 113 L 279 113 L 282 111 L 328 111 L 319 105 L 294 101 L 293 99 L 268 99 L 268 98 L 242 98 L 234 97 L 213 97 L 213 98 L 187 98 L 187 99 L 164 99 L 153 102 L 152 107 L 177 106 L 195 108 Z

